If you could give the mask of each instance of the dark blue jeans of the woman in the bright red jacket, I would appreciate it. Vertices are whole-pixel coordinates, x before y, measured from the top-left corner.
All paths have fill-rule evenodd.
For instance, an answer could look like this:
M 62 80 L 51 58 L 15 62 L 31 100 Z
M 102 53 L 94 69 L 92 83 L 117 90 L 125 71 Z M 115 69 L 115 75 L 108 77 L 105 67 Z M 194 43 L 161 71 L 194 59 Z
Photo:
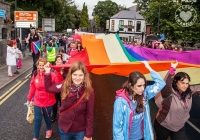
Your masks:
M 39 107 L 34 106 L 34 138 L 39 138 L 42 117 L 46 123 L 46 130 L 51 130 L 51 110 L 53 106 Z

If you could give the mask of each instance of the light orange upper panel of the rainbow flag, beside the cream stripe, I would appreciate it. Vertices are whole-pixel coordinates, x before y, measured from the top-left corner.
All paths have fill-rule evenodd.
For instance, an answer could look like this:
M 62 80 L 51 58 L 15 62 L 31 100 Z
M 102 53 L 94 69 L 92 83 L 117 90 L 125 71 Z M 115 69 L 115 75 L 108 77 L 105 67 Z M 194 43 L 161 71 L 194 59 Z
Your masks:
M 110 64 L 102 39 L 96 39 L 94 35 L 81 35 L 82 45 L 86 47 L 91 65 Z

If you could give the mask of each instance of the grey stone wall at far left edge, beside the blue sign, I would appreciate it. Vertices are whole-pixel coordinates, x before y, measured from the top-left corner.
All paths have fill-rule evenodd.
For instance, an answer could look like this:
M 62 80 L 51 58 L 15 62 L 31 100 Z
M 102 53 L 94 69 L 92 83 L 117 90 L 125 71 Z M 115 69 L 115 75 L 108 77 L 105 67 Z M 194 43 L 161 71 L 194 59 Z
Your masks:
M 6 18 L 10 18 L 10 4 L 0 1 L 0 9 L 6 11 Z M 6 64 L 7 40 L 11 39 L 10 26 L 0 17 L 0 66 Z

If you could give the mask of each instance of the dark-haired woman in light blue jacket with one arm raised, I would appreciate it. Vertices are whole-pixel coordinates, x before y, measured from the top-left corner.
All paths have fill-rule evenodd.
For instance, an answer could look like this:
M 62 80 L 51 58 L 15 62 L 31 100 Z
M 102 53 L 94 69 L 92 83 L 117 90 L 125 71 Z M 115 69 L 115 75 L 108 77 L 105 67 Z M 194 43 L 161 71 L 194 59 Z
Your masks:
M 131 72 L 122 89 L 116 91 L 113 113 L 113 140 L 153 140 L 153 129 L 148 100 L 164 86 L 162 77 L 144 61 L 153 85 L 138 71 Z

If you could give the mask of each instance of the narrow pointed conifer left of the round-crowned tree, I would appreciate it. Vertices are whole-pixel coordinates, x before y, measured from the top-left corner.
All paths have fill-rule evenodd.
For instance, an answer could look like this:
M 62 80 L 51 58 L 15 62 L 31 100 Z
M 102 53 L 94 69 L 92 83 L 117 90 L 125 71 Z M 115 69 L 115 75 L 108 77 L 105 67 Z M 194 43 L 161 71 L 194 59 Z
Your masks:
M 89 15 L 88 15 L 87 5 L 85 5 L 85 2 L 83 3 L 83 9 L 81 11 L 80 27 L 81 28 L 89 27 Z

